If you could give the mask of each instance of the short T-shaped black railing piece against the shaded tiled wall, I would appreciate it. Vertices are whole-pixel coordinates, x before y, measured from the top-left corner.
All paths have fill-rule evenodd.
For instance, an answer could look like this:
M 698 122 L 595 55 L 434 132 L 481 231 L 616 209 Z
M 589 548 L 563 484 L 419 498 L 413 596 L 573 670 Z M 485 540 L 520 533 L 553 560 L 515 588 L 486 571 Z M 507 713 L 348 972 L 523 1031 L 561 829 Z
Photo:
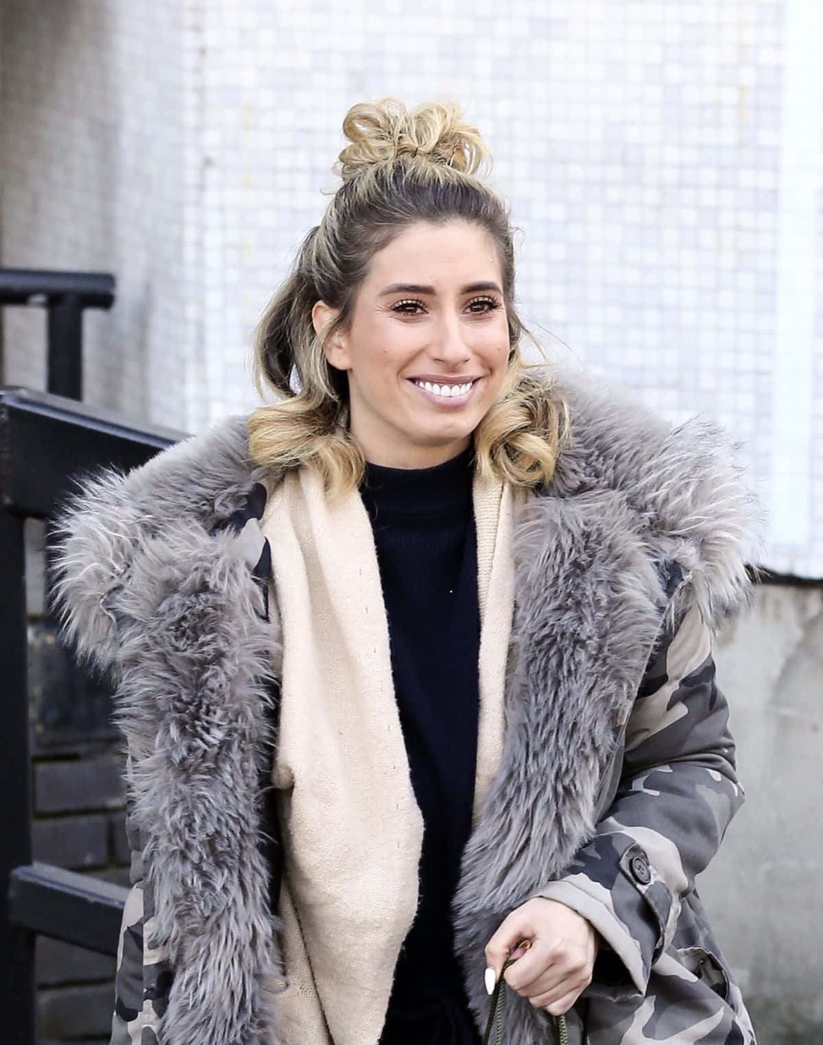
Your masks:
M 83 312 L 113 303 L 108 273 L 0 269 L 0 305 L 48 309 L 46 388 L 53 395 L 83 398 Z

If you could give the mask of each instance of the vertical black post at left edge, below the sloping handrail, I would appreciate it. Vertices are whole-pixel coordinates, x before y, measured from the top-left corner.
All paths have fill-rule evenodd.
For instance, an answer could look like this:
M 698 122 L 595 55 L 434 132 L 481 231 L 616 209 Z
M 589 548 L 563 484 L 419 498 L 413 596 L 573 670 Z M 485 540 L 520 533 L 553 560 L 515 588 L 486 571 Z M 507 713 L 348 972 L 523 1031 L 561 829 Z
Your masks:
M 5 497 L 3 498 L 5 502 Z M 35 1042 L 35 936 L 12 925 L 6 904 L 10 873 L 31 863 L 31 770 L 26 683 L 26 595 L 23 519 L 0 507 L 0 1011 L 3 1041 Z

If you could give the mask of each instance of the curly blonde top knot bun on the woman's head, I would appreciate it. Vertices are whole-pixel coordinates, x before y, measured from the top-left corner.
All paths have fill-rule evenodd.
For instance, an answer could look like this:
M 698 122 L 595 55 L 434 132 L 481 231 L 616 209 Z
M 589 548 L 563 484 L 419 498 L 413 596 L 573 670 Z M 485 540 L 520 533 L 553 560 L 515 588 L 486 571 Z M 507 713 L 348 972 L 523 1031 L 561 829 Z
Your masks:
M 429 101 L 412 112 L 396 98 L 361 101 L 346 113 L 343 134 L 351 144 L 340 154 L 335 170 L 344 182 L 403 156 L 466 175 L 490 160 L 477 127 L 464 123 L 459 106 L 451 101 Z

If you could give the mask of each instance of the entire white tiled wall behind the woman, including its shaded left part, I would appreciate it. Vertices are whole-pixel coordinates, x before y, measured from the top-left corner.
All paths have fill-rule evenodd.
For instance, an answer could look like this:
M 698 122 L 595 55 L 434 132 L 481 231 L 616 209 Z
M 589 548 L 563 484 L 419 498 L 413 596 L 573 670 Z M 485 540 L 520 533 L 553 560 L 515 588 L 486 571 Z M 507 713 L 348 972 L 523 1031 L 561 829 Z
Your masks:
M 200 429 L 254 403 L 254 322 L 356 100 L 460 100 L 549 352 L 745 442 L 767 565 L 823 576 L 823 5 L 6 0 L 5 264 L 112 269 L 87 397 Z M 816 44 L 817 42 L 817 44 Z M 35 319 L 6 318 L 42 381 Z

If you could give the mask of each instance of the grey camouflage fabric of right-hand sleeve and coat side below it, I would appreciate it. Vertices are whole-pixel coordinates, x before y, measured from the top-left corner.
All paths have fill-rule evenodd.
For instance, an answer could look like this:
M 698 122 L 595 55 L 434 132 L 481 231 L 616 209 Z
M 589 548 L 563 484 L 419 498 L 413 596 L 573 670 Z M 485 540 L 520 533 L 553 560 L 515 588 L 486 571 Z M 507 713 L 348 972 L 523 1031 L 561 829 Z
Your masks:
M 611 808 L 569 874 L 540 892 L 601 937 L 577 1042 L 754 1045 L 694 888 L 744 799 L 727 720 L 709 632 L 692 608 L 646 671 Z

